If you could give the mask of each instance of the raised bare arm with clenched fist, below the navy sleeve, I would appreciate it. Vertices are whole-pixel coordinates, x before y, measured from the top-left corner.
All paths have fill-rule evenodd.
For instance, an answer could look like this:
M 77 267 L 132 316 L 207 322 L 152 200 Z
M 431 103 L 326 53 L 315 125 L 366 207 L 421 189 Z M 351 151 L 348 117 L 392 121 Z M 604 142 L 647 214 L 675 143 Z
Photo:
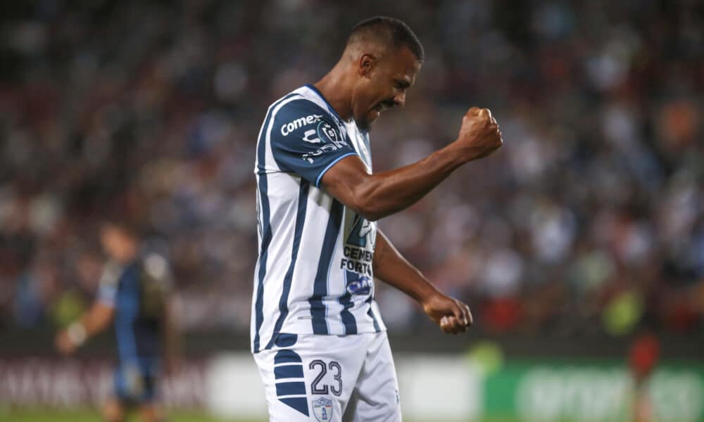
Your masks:
M 414 164 L 368 174 L 358 156 L 346 157 L 322 177 L 321 185 L 366 219 L 392 215 L 416 203 L 458 167 L 501 146 L 501 132 L 486 108 L 470 108 L 458 139 Z

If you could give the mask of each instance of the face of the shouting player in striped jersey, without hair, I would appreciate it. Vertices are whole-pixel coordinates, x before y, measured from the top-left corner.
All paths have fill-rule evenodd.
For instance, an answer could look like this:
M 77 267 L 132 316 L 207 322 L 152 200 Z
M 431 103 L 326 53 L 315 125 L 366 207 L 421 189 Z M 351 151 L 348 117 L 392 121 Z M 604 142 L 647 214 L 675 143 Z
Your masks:
M 413 86 L 420 70 L 415 55 L 403 47 L 372 61 L 365 68 L 365 58 L 360 60 L 360 79 L 352 98 L 352 113 L 357 126 L 368 130 L 382 111 L 406 103 L 406 91 Z

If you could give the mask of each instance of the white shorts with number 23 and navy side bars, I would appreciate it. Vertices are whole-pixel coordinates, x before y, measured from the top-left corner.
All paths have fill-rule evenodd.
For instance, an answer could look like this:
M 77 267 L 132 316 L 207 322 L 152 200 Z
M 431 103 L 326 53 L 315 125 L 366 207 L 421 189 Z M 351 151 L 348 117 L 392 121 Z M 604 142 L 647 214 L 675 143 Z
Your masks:
M 275 344 L 254 354 L 270 421 L 401 421 L 386 332 L 282 333 Z

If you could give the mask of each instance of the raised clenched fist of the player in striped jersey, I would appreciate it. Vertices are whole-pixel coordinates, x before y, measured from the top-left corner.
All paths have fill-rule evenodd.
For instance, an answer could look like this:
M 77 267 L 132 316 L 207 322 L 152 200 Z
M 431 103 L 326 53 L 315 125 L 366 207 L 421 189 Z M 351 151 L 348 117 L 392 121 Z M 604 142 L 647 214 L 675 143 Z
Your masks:
M 453 146 L 467 160 L 484 158 L 503 144 L 498 123 L 488 108 L 472 107 L 462 118 L 462 127 Z

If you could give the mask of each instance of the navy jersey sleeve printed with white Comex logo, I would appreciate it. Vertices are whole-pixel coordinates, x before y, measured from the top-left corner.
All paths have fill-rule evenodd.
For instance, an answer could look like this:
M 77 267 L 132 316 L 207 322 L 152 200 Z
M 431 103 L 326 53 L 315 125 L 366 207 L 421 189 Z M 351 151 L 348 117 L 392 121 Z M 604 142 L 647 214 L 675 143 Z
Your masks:
M 270 142 L 282 171 L 296 173 L 318 187 L 335 163 L 358 155 L 329 113 L 308 100 L 291 101 L 279 110 Z

